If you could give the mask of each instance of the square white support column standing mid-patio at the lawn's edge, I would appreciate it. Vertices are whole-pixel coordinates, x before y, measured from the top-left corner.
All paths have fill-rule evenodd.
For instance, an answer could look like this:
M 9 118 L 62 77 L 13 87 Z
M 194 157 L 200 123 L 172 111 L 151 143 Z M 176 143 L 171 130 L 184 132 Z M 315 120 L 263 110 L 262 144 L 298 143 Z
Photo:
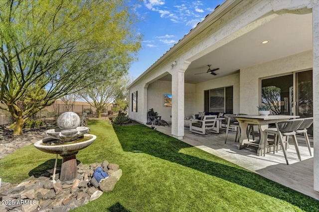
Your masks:
M 171 134 L 176 139 L 184 136 L 184 72 L 173 71 L 171 77 Z

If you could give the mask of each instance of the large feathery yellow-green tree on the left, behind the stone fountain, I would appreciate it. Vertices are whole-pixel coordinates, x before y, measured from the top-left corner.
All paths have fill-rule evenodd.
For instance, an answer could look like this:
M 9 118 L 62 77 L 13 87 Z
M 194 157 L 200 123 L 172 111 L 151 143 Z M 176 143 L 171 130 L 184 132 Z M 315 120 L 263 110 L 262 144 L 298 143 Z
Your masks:
M 97 74 L 106 81 L 125 74 L 141 48 L 135 22 L 124 0 L 2 0 L 0 102 L 16 120 L 13 135 L 56 99 L 98 81 Z

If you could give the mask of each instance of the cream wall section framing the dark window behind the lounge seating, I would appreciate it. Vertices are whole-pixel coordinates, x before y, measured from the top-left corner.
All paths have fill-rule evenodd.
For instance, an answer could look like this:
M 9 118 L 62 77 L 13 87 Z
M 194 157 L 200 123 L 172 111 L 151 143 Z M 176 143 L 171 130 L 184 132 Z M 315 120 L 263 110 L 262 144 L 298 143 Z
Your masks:
M 239 73 L 196 84 L 195 113 L 204 111 L 204 90 L 233 86 L 233 113 L 239 113 Z

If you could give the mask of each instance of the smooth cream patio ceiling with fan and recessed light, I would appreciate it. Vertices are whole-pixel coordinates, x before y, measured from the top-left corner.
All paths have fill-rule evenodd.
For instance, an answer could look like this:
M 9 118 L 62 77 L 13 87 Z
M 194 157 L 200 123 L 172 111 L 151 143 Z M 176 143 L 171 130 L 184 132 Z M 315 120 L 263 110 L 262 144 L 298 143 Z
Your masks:
M 312 13 L 279 16 L 228 44 L 193 61 L 185 71 L 185 83 L 199 83 L 238 72 L 268 61 L 284 58 L 313 48 Z M 262 44 L 263 41 L 269 41 Z M 218 75 L 209 73 L 207 65 Z M 167 74 L 159 80 L 171 81 Z

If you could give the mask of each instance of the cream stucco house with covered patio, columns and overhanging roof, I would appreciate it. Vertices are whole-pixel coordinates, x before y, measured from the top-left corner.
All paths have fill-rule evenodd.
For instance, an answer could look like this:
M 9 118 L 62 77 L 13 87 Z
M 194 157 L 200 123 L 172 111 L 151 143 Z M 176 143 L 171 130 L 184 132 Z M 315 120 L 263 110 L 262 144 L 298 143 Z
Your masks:
M 171 128 L 164 129 L 165 134 L 194 146 L 203 146 L 204 150 L 221 157 L 232 155 L 234 163 L 242 161 L 243 167 L 255 172 L 267 174 L 269 166 L 273 170 L 283 170 L 274 181 L 293 182 L 293 176 L 284 180 L 286 169 L 310 163 L 311 178 L 299 178 L 291 184 L 309 181 L 310 187 L 319 191 L 318 142 L 313 143 L 314 158 L 307 158 L 306 151 L 306 155 L 302 155 L 303 161 L 294 163 L 290 159 L 292 164 L 288 166 L 278 163 L 277 160 L 285 159 L 276 154 L 269 159 L 272 163 L 264 164 L 265 158 L 272 157 L 271 154 L 266 157 L 242 155 L 247 149 L 237 150 L 236 145 L 224 150 L 221 139 L 224 135 L 215 136 L 219 141 L 211 146 L 209 137 L 200 140 L 196 137 L 198 141 L 196 138 L 192 141 L 190 136 L 193 135 L 184 130 L 184 119 L 199 112 L 256 115 L 257 106 L 264 101 L 262 89 L 277 83 L 274 87 L 281 89 L 277 99 L 281 111 L 275 114 L 314 117 L 312 135 L 317 141 L 318 14 L 319 1 L 226 0 L 128 87 L 130 118 L 147 123 L 147 112 L 154 108 L 162 119 L 171 121 Z M 215 70 L 214 74 L 207 70 L 208 67 Z M 290 84 L 283 85 L 288 81 Z M 171 107 L 163 104 L 165 94 L 171 94 Z M 216 104 L 220 97 L 223 101 Z M 262 162 L 255 165 L 253 161 Z M 300 173 L 304 173 L 302 169 Z M 313 194 L 318 195 L 315 191 Z

